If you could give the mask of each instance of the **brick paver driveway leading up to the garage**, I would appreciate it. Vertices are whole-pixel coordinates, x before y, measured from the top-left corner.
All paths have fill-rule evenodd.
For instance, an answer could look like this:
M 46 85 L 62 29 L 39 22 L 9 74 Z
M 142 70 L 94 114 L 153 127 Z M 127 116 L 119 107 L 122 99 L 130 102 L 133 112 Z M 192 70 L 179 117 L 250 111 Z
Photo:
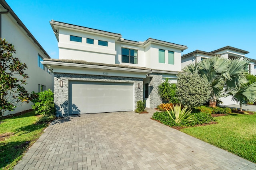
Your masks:
M 14 169 L 256 169 L 132 111 L 56 119 Z

